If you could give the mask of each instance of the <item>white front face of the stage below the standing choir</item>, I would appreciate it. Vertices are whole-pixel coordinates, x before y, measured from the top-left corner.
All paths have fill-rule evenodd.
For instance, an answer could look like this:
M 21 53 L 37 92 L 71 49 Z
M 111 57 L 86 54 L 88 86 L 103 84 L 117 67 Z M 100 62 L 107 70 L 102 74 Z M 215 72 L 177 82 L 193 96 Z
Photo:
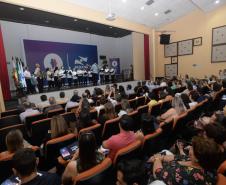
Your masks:
M 125 89 L 126 89 L 126 86 L 128 84 L 131 84 L 132 85 L 132 89 L 133 89 L 137 85 L 137 82 L 138 81 L 128 81 L 128 82 L 121 82 L 121 83 L 117 83 L 117 84 L 118 84 L 118 86 L 119 85 L 124 86 Z M 111 86 L 112 84 L 109 84 L 109 85 Z M 73 91 L 74 90 L 78 90 L 79 96 L 81 96 L 82 93 L 85 92 L 86 89 L 88 89 L 90 91 L 90 93 L 92 94 L 93 93 L 93 89 L 95 87 L 99 87 L 99 88 L 104 90 L 105 86 L 106 86 L 106 84 L 105 85 L 98 85 L 98 86 L 88 86 L 88 87 L 74 88 L 74 89 L 62 89 L 62 90 L 59 90 L 59 91 L 52 91 L 52 92 L 45 92 L 45 93 L 28 95 L 28 98 L 29 98 L 29 100 L 32 103 L 37 104 L 37 103 L 41 102 L 41 100 L 40 100 L 40 96 L 41 95 L 45 94 L 47 96 L 47 98 L 49 98 L 51 96 L 54 96 L 56 99 L 58 99 L 59 98 L 59 93 L 63 91 L 63 92 L 65 92 L 65 96 L 70 99 L 72 97 L 72 95 L 73 95 Z

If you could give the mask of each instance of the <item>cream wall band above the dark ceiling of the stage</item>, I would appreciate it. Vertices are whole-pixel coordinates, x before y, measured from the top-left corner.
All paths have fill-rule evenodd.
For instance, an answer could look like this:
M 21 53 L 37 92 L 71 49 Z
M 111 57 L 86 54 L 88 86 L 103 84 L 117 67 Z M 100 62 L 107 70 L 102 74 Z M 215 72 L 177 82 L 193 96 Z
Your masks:
M 73 3 L 59 0 L 1 0 L 1 2 L 19 5 L 22 7 L 29 7 L 60 15 L 70 16 L 74 18 L 84 19 L 92 22 L 97 22 L 109 26 L 119 27 L 139 33 L 151 34 L 152 28 L 128 21 L 121 17 L 117 17 L 115 21 L 107 21 L 106 14 L 103 12 L 95 11 L 89 8 L 85 8 Z

